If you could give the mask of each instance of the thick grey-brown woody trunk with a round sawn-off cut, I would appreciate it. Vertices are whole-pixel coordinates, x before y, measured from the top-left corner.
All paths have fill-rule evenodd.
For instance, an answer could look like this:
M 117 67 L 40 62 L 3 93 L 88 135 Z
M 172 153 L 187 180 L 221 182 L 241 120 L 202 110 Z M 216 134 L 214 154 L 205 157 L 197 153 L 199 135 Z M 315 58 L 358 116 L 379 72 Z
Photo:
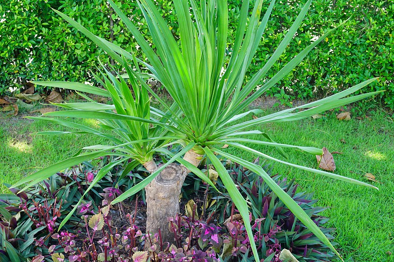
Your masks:
M 202 155 L 193 150 L 187 152 L 184 159 L 198 166 Z M 154 161 L 144 164 L 146 170 L 154 172 L 157 167 Z M 183 165 L 169 164 L 146 187 L 146 232 L 152 235 L 160 233 L 163 242 L 174 242 L 174 235 L 170 231 L 168 217 L 175 217 L 179 213 L 179 196 L 186 175 L 190 171 Z M 149 240 L 145 241 L 145 249 L 150 246 Z

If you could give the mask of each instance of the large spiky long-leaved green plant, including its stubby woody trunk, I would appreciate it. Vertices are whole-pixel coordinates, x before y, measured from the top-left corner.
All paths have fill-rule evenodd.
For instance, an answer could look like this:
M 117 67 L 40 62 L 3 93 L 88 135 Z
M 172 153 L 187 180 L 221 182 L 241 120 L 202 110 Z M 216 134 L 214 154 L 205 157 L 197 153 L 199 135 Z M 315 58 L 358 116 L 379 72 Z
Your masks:
M 158 181 L 158 179 L 155 177 L 157 177 L 161 170 L 165 170 L 165 175 L 162 175 L 160 178 L 162 180 L 165 180 L 165 177 L 168 178 L 164 184 L 174 184 L 175 182 L 182 184 L 185 176 L 184 174 L 187 173 L 187 171 L 191 170 L 196 174 L 199 174 L 199 170 L 194 167 L 198 166 L 200 160 L 203 157 L 206 157 L 219 173 L 222 182 L 226 186 L 234 204 L 245 221 L 245 226 L 249 237 L 252 237 L 251 227 L 249 225 L 249 210 L 247 202 L 238 192 L 238 189 L 233 184 L 222 163 L 215 156 L 216 153 L 261 175 L 265 183 L 283 201 L 283 203 L 287 205 L 287 207 L 297 216 L 297 218 L 339 256 L 324 233 L 319 230 L 316 224 L 309 218 L 302 208 L 300 208 L 298 204 L 296 204 L 292 198 L 287 193 L 285 193 L 275 183 L 275 181 L 271 179 L 269 175 L 264 172 L 262 167 L 253 163 L 249 163 L 248 161 L 245 161 L 237 156 L 218 149 L 218 146 L 228 144 L 229 146 L 236 147 L 240 150 L 245 150 L 260 157 L 291 165 L 299 169 L 321 175 L 327 175 L 329 177 L 346 182 L 375 188 L 372 185 L 357 181 L 352 178 L 291 164 L 286 161 L 268 156 L 248 146 L 242 145 L 242 143 L 250 143 L 264 146 L 274 146 L 284 156 L 284 147 L 298 148 L 314 155 L 322 155 L 323 151 L 314 147 L 277 144 L 270 140 L 269 137 L 262 131 L 255 130 L 254 128 L 260 128 L 257 126 L 268 122 L 293 121 L 302 119 L 378 93 L 372 92 L 347 97 L 349 94 L 359 90 L 360 88 L 375 80 L 371 79 L 316 102 L 258 117 L 256 119 L 244 120 L 235 124 L 235 121 L 243 119 L 244 116 L 248 116 L 252 113 L 263 113 L 263 111 L 260 110 L 247 110 L 247 108 L 253 101 L 261 96 L 264 91 L 275 85 L 286 74 L 290 73 L 310 50 L 316 47 L 316 45 L 322 39 L 326 38 L 328 34 L 334 30 L 328 30 L 327 33 L 322 35 L 316 41 L 312 42 L 305 50 L 300 51 L 288 64 L 286 64 L 276 75 L 274 75 L 274 77 L 270 79 L 265 78 L 265 74 L 285 51 L 287 45 L 291 42 L 294 35 L 296 34 L 298 27 L 301 25 L 302 20 L 307 13 L 311 1 L 312 0 L 308 0 L 306 2 L 297 16 L 294 24 L 288 30 L 286 36 L 277 47 L 276 51 L 247 83 L 244 83 L 246 69 L 258 48 L 259 42 L 262 38 L 265 26 L 270 16 L 270 12 L 275 5 L 275 0 L 271 0 L 269 7 L 263 15 L 263 18 L 261 18 L 263 0 L 256 0 L 253 6 L 252 14 L 250 16 L 248 15 L 250 3 L 249 1 L 243 1 L 240 8 L 237 30 L 235 32 L 235 42 L 231 43 L 229 46 L 227 43 L 228 6 L 226 0 L 201 0 L 199 4 L 197 4 L 196 0 L 174 0 L 173 5 L 175 7 L 179 23 L 179 39 L 174 38 L 171 30 L 166 26 L 163 17 L 155 7 L 155 4 L 152 0 L 139 0 L 138 5 L 142 10 L 145 21 L 149 27 L 155 49 L 153 49 L 152 46 L 145 40 L 144 36 L 136 29 L 128 17 L 122 13 L 118 6 L 112 0 L 108 0 L 112 8 L 131 31 L 131 34 L 134 38 L 133 40 L 135 40 L 143 50 L 148 61 L 134 58 L 132 54 L 126 52 L 124 49 L 106 41 L 105 39 L 100 38 L 99 36 L 92 34 L 88 29 L 84 28 L 65 14 L 56 11 L 71 25 L 73 25 L 75 28 L 88 36 L 93 42 L 99 45 L 99 47 L 107 52 L 108 55 L 111 56 L 115 61 L 125 66 L 128 77 L 133 79 L 132 82 L 134 84 L 139 82 L 140 85 L 142 85 L 141 92 L 143 92 L 143 89 L 148 90 L 153 96 L 155 96 L 155 98 L 158 99 L 158 101 L 167 111 L 164 113 L 153 107 L 150 108 L 151 113 L 155 113 L 157 116 L 159 116 L 160 120 L 156 120 L 152 116 L 149 117 L 149 114 L 140 115 L 139 111 L 131 113 L 131 111 L 127 109 L 130 104 L 135 104 L 136 106 L 146 109 L 146 107 L 139 105 L 141 102 L 146 104 L 146 101 L 143 99 L 131 101 L 132 96 L 130 96 L 130 94 L 126 94 L 126 86 L 123 84 L 121 76 L 118 76 L 120 80 L 117 80 L 113 76 L 110 76 L 109 72 L 107 72 L 107 75 L 112 81 L 112 84 L 110 85 L 111 87 L 108 88 L 109 81 L 101 83 L 107 88 L 107 91 L 78 83 L 34 82 L 35 84 L 43 86 L 69 88 L 111 96 L 117 110 L 116 113 L 110 111 L 113 109 L 112 107 L 105 108 L 107 105 L 104 106 L 100 105 L 99 103 L 95 103 L 88 104 L 92 106 L 90 108 L 88 106 L 84 107 L 82 104 L 60 105 L 63 107 L 68 107 L 70 110 L 51 112 L 45 115 L 96 118 L 102 123 L 102 127 L 113 130 L 120 137 L 123 136 L 124 130 L 127 130 L 127 134 L 132 133 L 133 135 L 122 137 L 123 140 L 121 141 L 112 137 L 108 138 L 114 141 L 116 146 L 105 148 L 102 146 L 89 147 L 89 149 L 99 150 L 70 158 L 72 161 L 65 160 L 60 162 L 59 164 L 53 165 L 50 168 L 44 169 L 27 178 L 22 179 L 16 185 L 21 185 L 22 183 L 30 181 L 31 183 L 35 183 L 40 179 L 46 178 L 55 171 L 66 168 L 67 166 L 75 164 L 78 161 L 83 161 L 88 157 L 107 154 L 108 152 L 112 152 L 111 150 L 117 149 L 122 151 L 122 154 L 124 154 L 125 158 L 136 159 L 140 163 L 144 164 L 148 171 L 153 174 L 148 176 L 140 184 L 131 188 L 128 192 L 125 192 L 113 203 L 126 199 L 127 197 L 136 193 L 138 190 L 142 189 L 144 186 L 148 185 L 148 183 L 151 183 L 150 185 L 156 190 L 147 190 L 148 215 L 154 215 L 156 219 L 160 220 L 163 219 L 163 216 L 160 216 L 159 213 L 165 213 L 165 215 L 167 215 L 168 212 L 163 212 L 163 209 L 172 208 L 172 205 L 171 207 L 167 207 L 166 204 L 168 203 L 164 200 L 165 197 L 163 196 L 155 198 L 155 195 L 157 195 L 160 190 L 163 190 L 163 187 L 155 187 L 155 185 L 152 184 L 155 183 L 155 181 Z M 192 13 L 190 13 L 190 10 Z M 230 54 L 229 58 L 226 56 L 227 53 Z M 135 65 L 135 68 L 131 70 L 129 68 L 129 64 L 132 64 L 133 61 L 136 61 L 138 64 Z M 137 70 L 139 66 L 145 67 L 149 73 L 139 73 Z M 174 100 L 174 103 L 171 107 L 167 107 L 164 101 L 162 101 L 160 97 L 158 97 L 158 95 L 155 94 L 145 84 L 144 77 L 152 77 L 163 84 L 165 89 Z M 118 82 L 120 82 L 120 84 Z M 114 88 L 112 88 L 112 86 Z M 112 91 L 110 91 L 110 89 L 112 89 Z M 252 91 L 254 92 L 251 94 Z M 59 119 L 51 119 L 50 121 L 57 121 L 61 124 L 64 123 L 64 120 Z M 135 125 L 134 129 L 129 127 L 131 123 L 132 125 Z M 141 133 L 141 136 L 134 136 L 134 132 L 137 132 L 137 134 L 139 132 L 136 130 L 136 128 L 138 128 L 138 126 L 146 128 L 146 124 L 153 125 L 152 132 L 145 132 Z M 73 127 L 80 129 L 85 128 L 75 125 Z M 156 130 L 163 131 L 156 132 Z M 89 130 L 86 132 L 101 136 L 104 135 L 97 130 Z M 146 136 L 142 136 L 142 134 L 145 134 Z M 261 134 L 262 139 L 265 138 L 265 141 L 243 138 L 245 136 L 247 137 L 248 135 L 256 134 Z M 182 151 L 176 155 L 171 154 L 171 152 L 164 148 L 164 145 L 167 145 L 171 140 L 174 140 L 172 143 L 179 143 L 184 146 Z M 139 147 L 137 148 L 136 146 L 142 145 L 141 148 L 147 146 L 143 143 L 153 145 L 153 147 L 149 147 L 151 148 L 150 150 L 148 147 L 146 147 L 146 151 L 144 151 L 146 152 L 146 155 L 143 154 L 143 150 L 140 151 Z M 133 145 L 133 150 L 129 148 L 131 145 Z M 156 170 L 157 167 L 154 163 L 152 163 L 149 155 L 151 152 L 167 154 L 171 160 Z M 184 155 L 183 158 L 181 157 L 182 155 Z M 178 170 L 178 172 L 183 172 L 182 175 L 174 175 L 174 172 L 176 172 L 176 165 L 174 164 L 172 165 L 172 169 L 164 169 L 168 163 L 174 161 L 186 166 L 186 169 L 181 166 L 181 169 L 183 168 L 183 170 Z M 174 179 L 174 177 L 178 178 Z M 97 181 L 99 176 L 97 176 L 95 179 Z M 204 180 L 207 180 L 206 177 Z M 171 196 L 168 196 L 171 197 L 171 199 L 176 199 L 174 196 L 179 196 L 179 193 L 179 186 L 174 187 L 173 190 L 166 192 L 166 194 L 171 194 Z M 176 206 L 176 204 L 173 206 Z M 173 211 L 176 212 L 176 210 Z M 163 223 L 165 224 L 165 221 Z M 164 225 L 163 223 L 158 222 L 160 225 Z M 158 228 L 150 227 L 148 225 L 147 229 L 152 230 L 151 232 L 154 233 Z M 165 227 L 163 228 L 162 226 L 161 229 L 162 232 L 165 231 Z M 251 242 L 255 259 L 256 261 L 259 261 L 253 239 L 251 239 Z

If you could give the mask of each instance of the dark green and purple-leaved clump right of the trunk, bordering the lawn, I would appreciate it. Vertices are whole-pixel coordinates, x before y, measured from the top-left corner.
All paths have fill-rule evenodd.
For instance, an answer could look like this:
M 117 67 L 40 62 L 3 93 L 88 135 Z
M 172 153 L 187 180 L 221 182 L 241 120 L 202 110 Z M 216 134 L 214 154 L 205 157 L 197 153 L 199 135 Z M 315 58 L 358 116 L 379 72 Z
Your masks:
M 259 163 L 259 158 L 255 160 L 255 163 Z M 239 188 L 241 194 L 245 198 L 248 198 L 248 206 L 253 224 L 253 239 L 256 242 L 261 258 L 267 258 L 275 253 L 273 258 L 278 259 L 283 249 L 290 250 L 300 262 L 331 261 L 337 258 L 326 244 L 320 241 L 316 235 L 311 233 L 294 216 L 259 175 L 231 161 L 223 161 L 223 164 L 227 166 L 229 175 L 234 184 Z M 333 229 L 324 227 L 328 222 L 328 218 L 319 214 L 326 208 L 315 206 L 317 200 L 313 199 L 313 193 L 296 193 L 298 185 L 294 179 L 288 181 L 287 178 L 282 178 L 280 175 L 271 175 L 271 168 L 268 165 L 263 166 L 263 168 L 278 186 L 292 197 L 314 223 L 319 226 L 327 238 L 333 239 L 331 235 Z M 211 170 L 211 173 L 213 173 L 213 170 Z M 195 184 L 192 183 L 192 180 L 196 181 Z M 198 203 L 201 210 L 201 218 L 207 218 L 210 221 L 213 216 L 217 219 L 219 225 L 228 228 L 231 237 L 235 239 L 239 237 L 239 243 L 234 241 L 230 243 L 228 240 L 221 240 L 221 243 L 228 243 L 225 249 L 228 250 L 229 254 L 232 252 L 233 254 L 239 255 L 237 252 L 244 251 L 244 256 L 250 261 L 253 261 L 253 258 L 249 257 L 252 254 L 249 253 L 250 246 L 248 245 L 247 233 L 243 224 L 240 223 L 242 219 L 239 214 L 235 214 L 237 212 L 234 209 L 234 204 L 220 177 L 215 181 L 217 188 L 221 192 L 220 194 L 193 176 L 186 180 L 186 183 L 190 183 L 190 185 L 186 186 L 185 193 L 187 192 L 189 198 L 193 198 L 193 187 L 197 189 L 199 194 L 204 194 L 203 201 Z M 189 188 L 190 190 L 188 190 Z M 192 217 L 195 216 L 193 215 Z M 230 221 L 230 218 L 233 218 L 232 221 Z M 183 219 L 187 221 L 186 217 L 183 217 Z M 188 229 L 190 226 L 185 226 L 185 228 Z M 187 231 L 186 234 L 189 232 Z M 248 252 L 245 252 L 246 250 Z M 226 252 L 222 253 L 222 255 L 224 254 Z

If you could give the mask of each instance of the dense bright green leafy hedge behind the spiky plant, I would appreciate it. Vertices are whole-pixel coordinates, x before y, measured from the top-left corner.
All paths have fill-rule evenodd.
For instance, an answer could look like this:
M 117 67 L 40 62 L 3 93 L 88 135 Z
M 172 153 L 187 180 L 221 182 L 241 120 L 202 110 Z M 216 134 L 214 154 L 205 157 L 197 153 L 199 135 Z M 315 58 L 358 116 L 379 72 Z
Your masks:
M 251 0 L 253 3 L 255 0 Z M 148 35 L 142 14 L 134 0 L 123 0 L 119 7 Z M 229 0 L 230 36 L 236 27 L 241 0 Z M 305 0 L 278 1 L 269 20 L 248 78 L 261 68 L 296 19 Z M 156 0 L 159 10 L 177 33 L 172 3 Z M 268 3 L 264 3 L 265 8 Z M 27 80 L 68 80 L 93 82 L 91 70 L 97 57 L 109 62 L 88 38 L 60 19 L 51 7 L 77 19 L 93 33 L 112 39 L 125 49 L 135 49 L 130 33 L 103 0 L 2 0 L 0 5 L 0 95 L 26 87 Z M 314 37 L 339 25 L 341 29 L 318 45 L 296 69 L 269 94 L 286 103 L 295 98 L 309 99 L 327 95 L 378 77 L 379 81 L 361 90 L 386 89 L 381 96 L 394 108 L 394 3 L 374 0 L 319 0 L 266 78 L 305 48 Z M 229 46 L 229 52 L 230 52 Z M 115 64 L 115 67 L 118 65 Z M 118 68 L 121 69 L 121 68 Z M 263 80 L 264 81 L 264 80 Z M 39 88 L 39 87 L 38 87 Z M 39 90 L 39 89 L 38 89 Z

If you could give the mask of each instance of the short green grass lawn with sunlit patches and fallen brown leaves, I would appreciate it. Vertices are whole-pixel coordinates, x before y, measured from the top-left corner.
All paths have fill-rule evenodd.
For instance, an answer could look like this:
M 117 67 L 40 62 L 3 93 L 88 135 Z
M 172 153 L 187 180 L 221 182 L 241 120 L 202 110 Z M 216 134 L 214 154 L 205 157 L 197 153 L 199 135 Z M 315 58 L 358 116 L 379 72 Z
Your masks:
M 278 143 L 300 146 L 326 146 L 339 151 L 334 160 L 336 174 L 368 181 L 372 173 L 380 182 L 372 182 L 379 191 L 335 181 L 282 164 L 274 165 L 274 173 L 295 177 L 300 189 L 315 192 L 321 206 L 328 206 L 325 215 L 329 226 L 335 227 L 337 248 L 347 262 L 394 262 L 394 123 L 393 116 L 383 110 L 370 112 L 367 118 L 338 121 L 333 113 L 323 119 L 270 123 L 261 126 Z M 95 121 L 86 123 L 91 126 Z M 105 144 L 97 137 L 65 135 L 59 137 L 29 137 L 42 130 L 65 130 L 44 122 L 0 115 L 0 182 L 13 183 L 22 175 L 46 167 L 71 156 L 79 148 Z M 255 137 L 255 139 L 261 139 Z M 254 148 L 281 158 L 273 149 Z M 233 149 L 228 148 L 231 151 Z M 253 156 L 233 150 L 238 156 L 252 160 Z M 299 150 L 286 150 L 289 162 L 316 167 L 316 157 Z M 1 187 L 3 191 L 5 187 Z

